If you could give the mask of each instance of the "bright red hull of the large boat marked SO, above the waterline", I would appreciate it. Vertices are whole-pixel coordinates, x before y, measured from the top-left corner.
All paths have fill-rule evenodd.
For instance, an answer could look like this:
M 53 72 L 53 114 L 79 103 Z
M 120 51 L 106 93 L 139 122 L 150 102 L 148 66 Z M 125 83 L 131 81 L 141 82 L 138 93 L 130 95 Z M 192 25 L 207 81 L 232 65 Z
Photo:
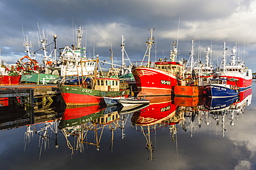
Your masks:
M 170 95 L 177 85 L 176 74 L 148 67 L 137 67 L 132 71 L 136 81 L 138 96 Z

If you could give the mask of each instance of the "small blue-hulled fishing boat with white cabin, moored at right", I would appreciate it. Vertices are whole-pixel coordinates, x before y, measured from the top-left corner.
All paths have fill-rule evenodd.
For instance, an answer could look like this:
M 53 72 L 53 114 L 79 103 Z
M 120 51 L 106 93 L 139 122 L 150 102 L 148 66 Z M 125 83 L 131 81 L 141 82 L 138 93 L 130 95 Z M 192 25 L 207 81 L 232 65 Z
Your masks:
M 228 98 L 239 94 L 239 88 L 235 85 L 228 85 L 228 79 L 212 78 L 209 85 L 205 85 L 203 94 L 210 98 Z

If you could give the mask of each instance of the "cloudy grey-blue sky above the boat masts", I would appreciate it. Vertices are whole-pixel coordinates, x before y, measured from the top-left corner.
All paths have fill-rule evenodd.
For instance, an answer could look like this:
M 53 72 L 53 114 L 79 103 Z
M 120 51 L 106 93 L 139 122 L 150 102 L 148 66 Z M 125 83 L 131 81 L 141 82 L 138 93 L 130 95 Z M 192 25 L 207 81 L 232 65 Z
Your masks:
M 0 2 L 0 16 L 1 59 L 9 64 L 26 55 L 23 37 L 33 52 L 39 49 L 39 30 L 48 43 L 57 34 L 57 47 L 64 47 L 73 44 L 79 26 L 87 56 L 99 54 L 110 62 L 112 47 L 114 61 L 120 63 L 124 35 L 129 59 L 141 61 L 148 29 L 155 28 L 152 56 L 157 59 L 169 56 L 170 43 L 179 39 L 179 58 L 188 60 L 194 39 L 196 56 L 204 61 L 206 47 L 212 47 L 212 63 L 218 65 L 226 41 L 228 56 L 236 46 L 237 56 L 256 72 L 256 0 L 9 0 Z

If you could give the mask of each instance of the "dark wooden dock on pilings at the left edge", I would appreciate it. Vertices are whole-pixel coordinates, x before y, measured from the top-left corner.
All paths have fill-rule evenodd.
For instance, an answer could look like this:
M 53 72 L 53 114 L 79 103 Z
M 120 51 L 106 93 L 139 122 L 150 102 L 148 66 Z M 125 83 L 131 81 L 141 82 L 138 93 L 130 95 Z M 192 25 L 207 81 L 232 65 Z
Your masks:
M 35 111 L 48 109 L 53 103 L 65 105 L 57 85 L 0 85 L 1 110 L 15 114 L 23 108 L 30 120 L 35 123 Z M 22 109 L 21 109 L 22 110 Z M 8 116 L 7 115 L 7 116 Z M 1 118 L 4 120 L 4 118 Z

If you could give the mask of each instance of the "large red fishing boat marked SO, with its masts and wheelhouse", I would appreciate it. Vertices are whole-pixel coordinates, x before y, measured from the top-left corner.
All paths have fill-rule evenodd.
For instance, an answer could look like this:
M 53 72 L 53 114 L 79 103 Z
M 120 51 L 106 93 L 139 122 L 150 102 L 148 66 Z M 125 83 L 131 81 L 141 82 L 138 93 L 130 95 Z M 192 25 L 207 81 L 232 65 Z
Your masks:
M 170 61 L 167 59 L 158 59 L 153 63 L 150 61 L 151 48 L 154 43 L 153 30 L 151 29 L 151 36 L 147 41 L 147 50 L 143 57 L 143 61 L 134 63 L 132 74 L 136 81 L 138 96 L 163 96 L 170 95 L 177 85 L 179 79 L 182 78 L 183 63 L 176 61 L 178 50 L 176 42 L 172 43 L 172 50 L 170 51 Z M 145 56 L 148 61 L 144 62 Z

